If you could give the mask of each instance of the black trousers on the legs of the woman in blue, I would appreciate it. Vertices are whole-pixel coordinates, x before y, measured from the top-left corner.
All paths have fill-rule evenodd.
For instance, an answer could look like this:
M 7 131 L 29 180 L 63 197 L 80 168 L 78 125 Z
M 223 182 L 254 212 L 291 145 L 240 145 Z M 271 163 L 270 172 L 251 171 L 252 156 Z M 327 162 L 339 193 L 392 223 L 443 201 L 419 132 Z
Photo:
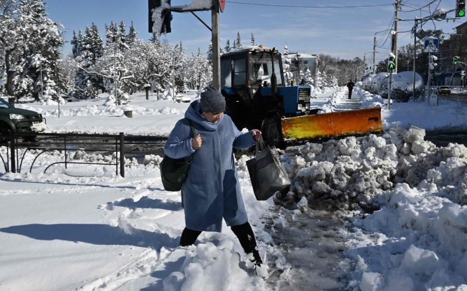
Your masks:
M 231 226 L 231 228 L 234 234 L 237 236 L 238 241 L 240 241 L 240 244 L 242 245 L 245 253 L 253 253 L 254 264 L 262 264 L 263 261 L 259 256 L 258 248 L 256 247 L 256 239 L 254 237 L 253 229 L 251 229 L 251 225 L 247 222 L 239 226 Z M 180 245 L 187 246 L 194 244 L 200 234 L 201 231 L 199 230 L 193 230 L 185 227 L 181 233 Z

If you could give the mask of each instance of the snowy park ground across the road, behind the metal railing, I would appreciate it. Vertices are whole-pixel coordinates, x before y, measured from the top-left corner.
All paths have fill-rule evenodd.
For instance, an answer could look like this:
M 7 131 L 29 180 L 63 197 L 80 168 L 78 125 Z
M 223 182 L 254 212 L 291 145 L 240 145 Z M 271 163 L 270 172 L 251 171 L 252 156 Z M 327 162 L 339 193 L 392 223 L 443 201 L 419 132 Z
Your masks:
M 193 91 L 181 96 L 194 99 L 197 95 Z M 108 107 L 104 106 L 106 98 L 106 94 L 101 94 L 97 99 L 66 102 L 60 105 L 60 117 L 58 105 L 23 103 L 17 107 L 42 113 L 47 119 L 47 132 L 167 135 L 190 104 L 157 100 L 156 93 L 146 100 L 144 92 L 138 92 L 130 97 L 130 103 Z M 133 111 L 132 118 L 124 115 L 126 110 Z

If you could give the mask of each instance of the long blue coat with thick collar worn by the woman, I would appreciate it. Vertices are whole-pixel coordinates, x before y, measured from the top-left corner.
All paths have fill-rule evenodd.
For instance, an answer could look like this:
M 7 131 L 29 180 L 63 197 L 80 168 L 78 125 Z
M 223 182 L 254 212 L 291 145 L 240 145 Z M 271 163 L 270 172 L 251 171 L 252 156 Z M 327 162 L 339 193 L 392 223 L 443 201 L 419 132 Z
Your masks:
M 186 118 L 201 135 L 202 145 L 196 152 L 191 146 L 193 135 Z M 248 221 L 233 148 L 244 149 L 254 144 L 251 132 L 242 133 L 228 115 L 224 114 L 214 124 L 201 115 L 199 100 L 190 104 L 185 118 L 177 122 L 164 147 L 165 154 L 173 159 L 195 152 L 183 192 L 186 227 L 220 232 L 222 218 L 228 226 Z

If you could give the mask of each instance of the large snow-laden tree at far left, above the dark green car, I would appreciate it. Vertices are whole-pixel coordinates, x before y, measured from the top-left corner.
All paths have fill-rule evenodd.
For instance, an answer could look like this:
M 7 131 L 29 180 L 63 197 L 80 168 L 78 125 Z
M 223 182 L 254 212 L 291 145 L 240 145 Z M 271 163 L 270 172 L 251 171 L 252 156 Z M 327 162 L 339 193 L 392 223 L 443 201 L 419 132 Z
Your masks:
M 60 48 L 64 40 L 59 25 L 48 17 L 44 5 L 42 0 L 20 0 L 15 13 L 7 19 L 12 24 L 7 37 L 14 35 L 11 43 L 3 47 L 8 95 L 39 100 L 46 83 L 51 94 L 57 91 L 58 80 L 54 78 L 62 62 Z

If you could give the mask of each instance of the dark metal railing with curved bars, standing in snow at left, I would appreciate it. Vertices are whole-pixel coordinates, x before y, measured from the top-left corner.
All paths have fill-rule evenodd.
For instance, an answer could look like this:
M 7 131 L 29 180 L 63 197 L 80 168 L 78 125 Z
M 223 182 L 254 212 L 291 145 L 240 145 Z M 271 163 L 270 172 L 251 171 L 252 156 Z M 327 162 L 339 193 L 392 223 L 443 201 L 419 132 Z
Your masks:
M 33 140 L 33 141 L 31 141 Z M 35 133 L 10 132 L 8 136 L 0 135 L 0 146 L 6 146 L 6 160 L 0 153 L 0 159 L 6 172 L 21 173 L 24 158 L 28 152 L 36 150 L 36 157 L 29 167 L 32 172 L 36 160 L 46 152 L 64 151 L 64 161 L 49 164 L 44 173 L 53 165 L 94 164 L 114 165 L 115 173 L 125 177 L 125 134 L 76 134 L 76 133 Z M 71 162 L 69 152 L 114 152 L 115 162 Z M 21 152 L 21 153 L 20 153 Z

